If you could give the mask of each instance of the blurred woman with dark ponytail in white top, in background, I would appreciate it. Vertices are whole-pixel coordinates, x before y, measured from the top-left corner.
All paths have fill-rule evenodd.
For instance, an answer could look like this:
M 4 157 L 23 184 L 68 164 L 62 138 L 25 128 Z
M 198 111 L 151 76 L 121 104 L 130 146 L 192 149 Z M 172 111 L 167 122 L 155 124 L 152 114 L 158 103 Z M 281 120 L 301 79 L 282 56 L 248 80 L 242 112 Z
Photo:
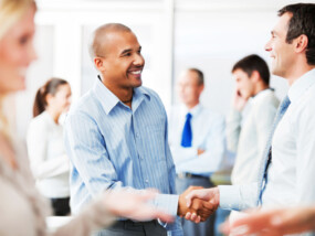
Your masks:
M 69 158 L 63 146 L 60 116 L 69 110 L 71 88 L 66 81 L 51 78 L 39 88 L 28 131 L 32 173 L 42 195 L 51 200 L 54 215 L 70 214 Z

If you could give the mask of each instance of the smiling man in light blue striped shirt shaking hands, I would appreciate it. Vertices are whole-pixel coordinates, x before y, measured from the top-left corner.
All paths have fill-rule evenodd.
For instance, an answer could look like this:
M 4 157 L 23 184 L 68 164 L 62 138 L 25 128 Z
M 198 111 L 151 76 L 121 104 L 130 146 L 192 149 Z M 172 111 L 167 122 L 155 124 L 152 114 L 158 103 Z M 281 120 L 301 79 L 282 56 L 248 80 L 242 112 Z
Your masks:
M 188 211 L 204 219 L 212 211 L 203 201 L 186 206 L 188 191 L 175 195 L 175 167 L 167 139 L 167 117 L 158 95 L 141 87 L 141 46 L 123 24 L 99 26 L 91 55 L 99 72 L 94 87 L 73 106 L 65 122 L 65 146 L 73 164 L 71 206 L 74 213 L 105 190 L 147 187 L 161 194 L 154 204 L 169 214 Z M 209 210 L 203 210 L 208 206 Z M 202 211 L 199 208 L 202 208 Z M 182 235 L 178 221 L 120 219 L 102 235 Z

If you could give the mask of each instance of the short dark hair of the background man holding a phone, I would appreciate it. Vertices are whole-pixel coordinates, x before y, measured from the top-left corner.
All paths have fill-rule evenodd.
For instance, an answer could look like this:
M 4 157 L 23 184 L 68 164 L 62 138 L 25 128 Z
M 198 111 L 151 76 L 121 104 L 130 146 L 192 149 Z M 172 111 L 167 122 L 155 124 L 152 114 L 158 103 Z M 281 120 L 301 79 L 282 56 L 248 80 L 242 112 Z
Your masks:
M 266 62 L 259 55 L 252 54 L 245 56 L 244 58 L 237 62 L 232 68 L 232 73 L 237 69 L 242 69 L 248 74 L 249 77 L 252 76 L 252 73 L 256 71 L 262 81 L 269 85 L 270 82 L 270 72 Z

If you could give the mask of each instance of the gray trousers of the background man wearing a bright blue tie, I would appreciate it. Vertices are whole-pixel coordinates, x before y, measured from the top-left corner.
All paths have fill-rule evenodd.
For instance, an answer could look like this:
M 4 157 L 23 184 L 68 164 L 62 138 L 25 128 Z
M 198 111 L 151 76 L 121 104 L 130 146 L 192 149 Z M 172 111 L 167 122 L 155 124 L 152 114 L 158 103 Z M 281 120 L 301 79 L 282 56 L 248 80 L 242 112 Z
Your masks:
M 176 190 L 181 194 L 189 186 L 203 186 L 212 187 L 213 184 L 208 178 L 190 176 L 190 178 L 176 178 Z M 181 218 L 181 225 L 185 236 L 213 236 L 214 235 L 214 221 L 216 214 L 211 215 L 206 222 L 195 224 L 190 221 Z

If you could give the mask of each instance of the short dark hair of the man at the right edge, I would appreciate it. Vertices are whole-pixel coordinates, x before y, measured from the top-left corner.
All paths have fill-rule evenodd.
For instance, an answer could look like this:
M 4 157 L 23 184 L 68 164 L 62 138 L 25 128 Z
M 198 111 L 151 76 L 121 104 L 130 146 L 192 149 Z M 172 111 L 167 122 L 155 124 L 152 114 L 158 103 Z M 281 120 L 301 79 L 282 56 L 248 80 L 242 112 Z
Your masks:
M 308 39 L 306 47 L 306 60 L 308 65 L 315 65 L 315 4 L 297 3 L 288 4 L 280 9 L 277 15 L 292 13 L 288 22 L 286 42 L 292 43 L 294 39 L 301 34 L 305 34 Z

